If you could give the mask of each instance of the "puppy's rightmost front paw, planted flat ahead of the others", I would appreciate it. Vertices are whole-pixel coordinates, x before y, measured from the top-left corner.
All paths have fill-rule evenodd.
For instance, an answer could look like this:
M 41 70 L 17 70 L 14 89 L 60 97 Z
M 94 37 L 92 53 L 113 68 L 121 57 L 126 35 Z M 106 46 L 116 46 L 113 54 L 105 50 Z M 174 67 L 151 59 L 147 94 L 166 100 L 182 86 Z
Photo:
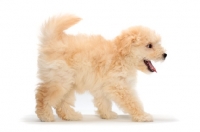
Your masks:
M 148 113 L 144 113 L 142 115 L 134 115 L 132 120 L 135 122 L 152 122 L 153 117 Z

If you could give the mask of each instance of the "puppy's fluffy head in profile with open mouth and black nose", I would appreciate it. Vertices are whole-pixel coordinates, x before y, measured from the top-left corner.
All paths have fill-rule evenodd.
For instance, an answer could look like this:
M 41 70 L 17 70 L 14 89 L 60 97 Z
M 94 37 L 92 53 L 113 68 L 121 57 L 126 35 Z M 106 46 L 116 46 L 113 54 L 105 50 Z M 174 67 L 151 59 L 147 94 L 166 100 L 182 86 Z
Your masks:
M 149 73 L 156 72 L 151 61 L 163 61 L 167 57 L 160 41 L 160 36 L 153 30 L 136 26 L 123 31 L 115 43 L 121 56 L 132 58 L 136 69 Z

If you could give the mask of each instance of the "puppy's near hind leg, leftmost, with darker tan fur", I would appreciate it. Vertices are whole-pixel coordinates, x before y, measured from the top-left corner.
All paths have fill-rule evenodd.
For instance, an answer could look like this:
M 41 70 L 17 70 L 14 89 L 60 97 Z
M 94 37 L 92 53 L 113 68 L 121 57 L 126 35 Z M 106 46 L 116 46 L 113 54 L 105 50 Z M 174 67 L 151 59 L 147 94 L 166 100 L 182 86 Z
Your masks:
M 51 106 L 61 101 L 66 90 L 59 84 L 42 83 L 36 93 L 36 114 L 41 121 L 54 121 Z

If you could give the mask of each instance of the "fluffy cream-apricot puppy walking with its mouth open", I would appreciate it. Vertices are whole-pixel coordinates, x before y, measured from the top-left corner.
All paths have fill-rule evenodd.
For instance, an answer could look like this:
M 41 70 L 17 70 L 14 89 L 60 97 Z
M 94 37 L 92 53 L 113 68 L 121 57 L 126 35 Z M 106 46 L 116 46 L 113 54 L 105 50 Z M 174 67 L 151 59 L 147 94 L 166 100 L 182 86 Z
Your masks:
M 36 114 L 41 121 L 54 121 L 52 107 L 64 120 L 81 120 L 74 106 L 75 92 L 88 90 L 103 119 L 116 118 L 114 101 L 133 121 L 153 121 L 133 89 L 136 73 L 156 72 L 150 60 L 162 61 L 167 54 L 160 36 L 149 28 L 128 28 L 113 40 L 101 35 L 69 35 L 63 31 L 79 22 L 74 15 L 49 19 L 42 27 L 38 57 Z

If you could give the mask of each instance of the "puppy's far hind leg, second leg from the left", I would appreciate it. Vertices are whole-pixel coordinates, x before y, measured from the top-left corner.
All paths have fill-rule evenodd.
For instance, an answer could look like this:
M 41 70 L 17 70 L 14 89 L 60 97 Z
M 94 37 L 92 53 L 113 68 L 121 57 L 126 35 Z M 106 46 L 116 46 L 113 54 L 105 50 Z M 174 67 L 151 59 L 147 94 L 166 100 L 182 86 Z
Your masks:
M 74 106 L 75 92 L 69 91 L 62 101 L 56 107 L 56 113 L 63 120 L 77 121 L 82 119 L 82 115 L 79 112 L 75 112 L 71 106 Z

